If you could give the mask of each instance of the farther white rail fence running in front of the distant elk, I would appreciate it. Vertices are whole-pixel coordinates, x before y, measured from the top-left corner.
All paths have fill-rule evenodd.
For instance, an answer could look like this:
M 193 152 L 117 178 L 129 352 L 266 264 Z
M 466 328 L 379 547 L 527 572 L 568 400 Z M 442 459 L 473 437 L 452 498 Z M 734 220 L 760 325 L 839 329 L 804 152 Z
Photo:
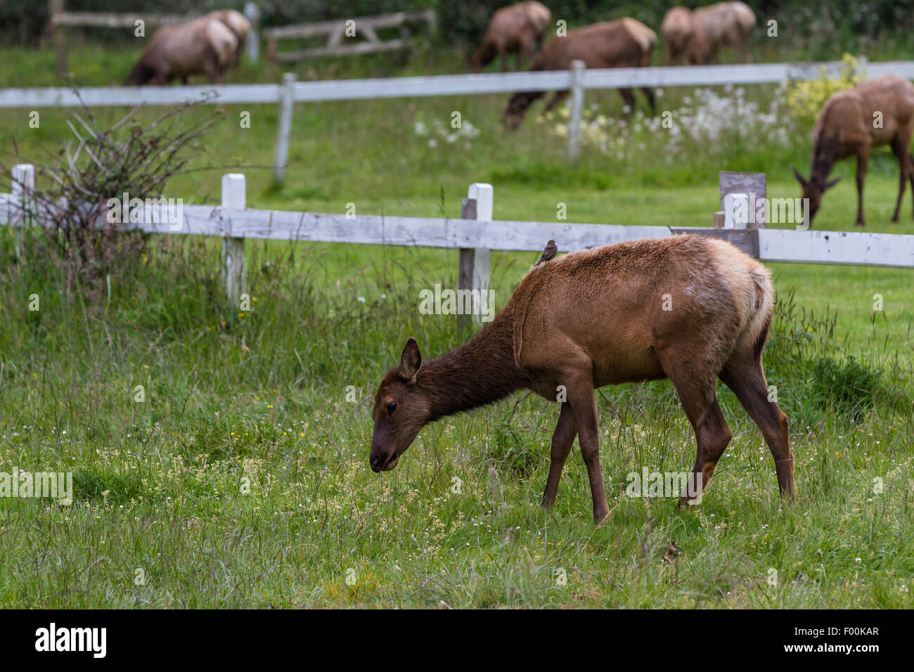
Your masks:
M 914 79 L 914 61 L 866 63 L 867 77 L 896 74 Z M 761 63 L 751 65 L 676 66 L 663 68 L 585 69 L 575 61 L 568 71 L 502 72 L 430 77 L 393 77 L 368 80 L 296 81 L 292 73 L 282 84 L 227 84 L 222 86 L 89 87 L 80 96 L 90 107 L 178 105 L 201 99 L 211 103 L 248 104 L 278 102 L 274 176 L 282 181 L 292 130 L 295 102 L 356 101 L 379 98 L 474 95 L 514 91 L 572 91 L 569 123 L 569 156 L 579 152 L 579 123 L 584 109 L 584 91 L 657 86 L 717 86 L 722 84 L 778 83 L 784 80 L 816 80 L 826 73 L 834 76 L 844 69 L 842 61 L 823 63 Z M 212 94 L 215 92 L 215 96 Z M 79 107 L 74 91 L 59 87 L 0 90 L 0 108 Z

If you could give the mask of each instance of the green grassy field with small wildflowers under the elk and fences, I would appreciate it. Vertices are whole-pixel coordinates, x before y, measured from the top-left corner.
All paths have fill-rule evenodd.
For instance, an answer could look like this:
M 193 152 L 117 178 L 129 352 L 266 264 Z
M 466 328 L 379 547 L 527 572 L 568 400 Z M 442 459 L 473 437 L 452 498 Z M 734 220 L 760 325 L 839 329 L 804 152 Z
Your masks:
M 83 83 L 107 84 L 130 56 L 88 45 L 70 58 Z M 53 83 L 49 51 L 0 57 L 11 63 L 3 86 Z M 430 54 L 368 63 L 316 75 L 455 69 Z M 268 67 L 238 76 L 278 77 Z M 666 90 L 661 109 L 689 95 Z M 765 106 L 777 94 L 746 95 Z M 809 163 L 808 125 L 782 119 L 786 144 L 756 143 L 746 129 L 671 154 L 669 138 L 632 131 L 621 156 L 589 145 L 570 166 L 560 119 L 531 114 L 505 133 L 504 101 L 299 105 L 284 187 L 262 167 L 275 106 L 210 106 L 191 118 L 218 112 L 193 162 L 211 169 L 175 177 L 166 193 L 216 202 L 219 176 L 242 166 L 231 170 L 248 176 L 250 207 L 342 212 L 353 202 L 359 214 L 456 217 L 467 185 L 482 181 L 494 185 L 496 219 L 552 219 L 563 202 L 569 221 L 707 225 L 717 170 L 764 171 L 770 196 L 793 197 L 790 165 Z M 621 112 L 612 92 L 587 102 L 591 118 Z M 250 129 L 239 127 L 244 110 Z M 436 134 L 454 111 L 478 136 Z M 9 112 L 7 163 L 46 161 L 44 149 L 70 137 L 69 112 L 41 111 L 37 129 L 29 111 Z M 101 125 L 122 113 L 97 111 Z M 845 179 L 817 229 L 854 230 L 852 170 L 837 169 Z M 914 233 L 910 200 L 888 222 L 895 170 L 887 154 L 874 157 L 867 230 Z M 558 409 L 533 396 L 439 421 L 396 470 L 367 468 L 374 391 L 406 338 L 427 357 L 462 341 L 452 316 L 417 310 L 420 290 L 455 284 L 456 252 L 249 242 L 248 313 L 223 298 L 218 241 L 146 240 L 136 255 L 125 246 L 110 296 L 103 275 L 76 283 L 43 237 L 23 244 L 17 261 L 0 229 L 0 472 L 72 472 L 74 502 L 0 498 L 0 606 L 914 605 L 909 271 L 772 265 L 780 301 L 765 366 L 792 421 L 795 507 L 782 504 L 771 455 L 723 386 L 734 440 L 702 504 L 682 512 L 672 499 L 627 496 L 630 472 L 694 461 L 693 432 L 663 381 L 597 396 L 611 517 L 595 528 L 575 454 L 557 507 L 538 506 Z M 534 256 L 494 255 L 498 304 Z M 28 310 L 31 294 L 39 311 Z

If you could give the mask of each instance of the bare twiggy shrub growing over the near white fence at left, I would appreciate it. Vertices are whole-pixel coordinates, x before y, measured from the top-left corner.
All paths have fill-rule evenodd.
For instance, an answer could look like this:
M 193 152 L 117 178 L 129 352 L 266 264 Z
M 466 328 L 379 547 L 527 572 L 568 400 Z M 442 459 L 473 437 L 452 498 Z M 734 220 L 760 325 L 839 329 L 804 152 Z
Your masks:
M 120 199 L 124 193 L 131 198 L 162 197 L 169 180 L 188 172 L 189 158 L 204 151 L 197 141 L 214 122 L 212 115 L 189 124 L 182 117 L 207 100 L 176 106 L 144 124 L 136 121 L 142 108 L 137 105 L 102 130 L 80 96 L 80 111 L 67 120 L 75 139 L 44 150 L 49 157 L 45 164 L 23 157 L 22 163 L 35 164 L 36 188 L 14 204 L 14 212 L 17 208 L 19 221 L 36 224 L 48 234 L 50 244 L 36 241 L 36 251 L 41 258 L 53 255 L 53 261 L 62 264 L 69 285 L 97 285 L 115 265 L 123 268 L 143 254 L 143 235 L 124 233 L 122 225 L 108 217 L 109 199 Z M 15 142 L 10 158 L 20 163 Z M 9 184 L 16 180 L 5 164 L 0 165 L 0 176 Z

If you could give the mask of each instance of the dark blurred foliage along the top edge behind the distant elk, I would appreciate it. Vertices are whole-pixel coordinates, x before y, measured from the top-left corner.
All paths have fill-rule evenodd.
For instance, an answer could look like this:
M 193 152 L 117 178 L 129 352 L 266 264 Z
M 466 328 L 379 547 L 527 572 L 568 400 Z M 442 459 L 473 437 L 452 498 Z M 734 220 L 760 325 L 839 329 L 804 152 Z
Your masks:
M 245 0 L 66 0 L 70 11 L 204 13 L 213 9 L 241 9 Z M 264 26 L 371 16 L 432 7 L 440 18 L 440 38 L 446 42 L 475 42 L 495 9 L 506 0 L 260 0 Z M 658 29 L 671 6 L 690 7 L 710 2 L 676 3 L 669 0 L 548 0 L 554 19 L 579 26 L 620 16 L 632 16 Z M 914 26 L 914 0 L 747 0 L 760 24 L 778 21 L 783 37 L 797 36 L 823 46 L 840 40 L 842 48 L 872 42 L 886 35 L 907 37 Z M 33 42 L 45 34 L 48 5 L 44 0 L 0 2 L 0 38 L 6 43 Z M 106 35 L 111 36 L 111 31 Z M 124 34 L 119 38 L 126 39 Z

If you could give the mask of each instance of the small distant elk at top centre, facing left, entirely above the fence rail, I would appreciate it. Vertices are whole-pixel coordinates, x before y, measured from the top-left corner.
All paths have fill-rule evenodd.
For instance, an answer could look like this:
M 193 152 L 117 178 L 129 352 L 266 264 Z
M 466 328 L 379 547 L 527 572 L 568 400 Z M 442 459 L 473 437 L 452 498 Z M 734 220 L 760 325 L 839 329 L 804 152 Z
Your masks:
M 551 20 L 549 8 L 534 0 L 502 7 L 492 15 L 485 29 L 483 45 L 470 61 L 473 72 L 479 72 L 495 57 L 501 57 L 504 72 L 508 67 L 508 54 L 517 55 L 517 69 L 521 69 L 523 55 L 533 60 L 543 47 L 543 35 Z

